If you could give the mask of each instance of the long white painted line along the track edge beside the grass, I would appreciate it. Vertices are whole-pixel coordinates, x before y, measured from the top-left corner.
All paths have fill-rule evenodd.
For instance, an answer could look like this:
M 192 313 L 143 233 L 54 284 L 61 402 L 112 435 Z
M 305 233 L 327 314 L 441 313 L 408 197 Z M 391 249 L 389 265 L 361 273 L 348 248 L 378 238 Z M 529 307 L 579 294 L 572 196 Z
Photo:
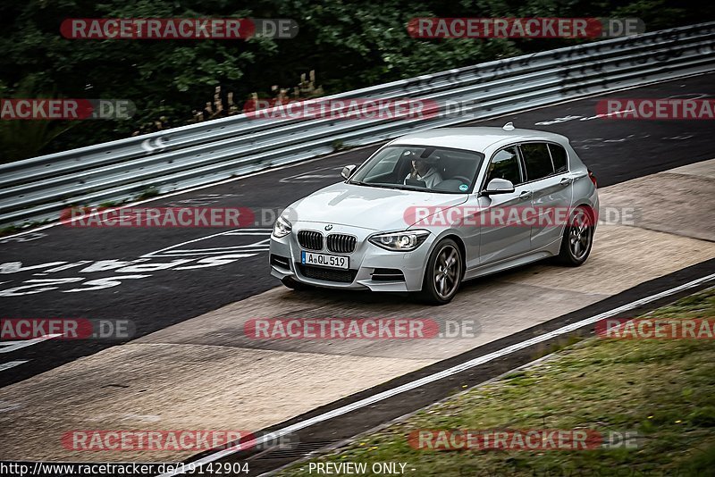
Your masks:
M 489 353 L 484 356 L 479 356 L 475 359 L 472 359 L 472 360 L 467 361 L 462 364 L 458 364 L 458 365 L 448 368 L 444 371 L 435 372 L 434 374 L 430 374 L 429 376 L 425 376 L 424 378 L 421 378 L 416 381 L 408 382 L 407 384 L 403 384 L 402 386 L 398 386 L 397 388 L 388 389 L 381 393 L 375 394 L 374 396 L 366 397 L 365 399 L 361 399 L 361 400 L 359 400 L 355 403 L 349 404 L 347 406 L 338 407 L 337 409 L 333 409 L 332 411 L 328 411 L 327 413 L 316 415 L 315 417 L 311 417 L 310 419 L 306 419 L 305 421 L 301 421 L 299 423 L 292 424 L 290 426 L 279 429 L 278 431 L 273 431 L 273 432 L 265 434 L 257 439 L 250 440 L 250 441 L 246 442 L 245 444 L 242 444 L 240 446 L 240 448 L 237 447 L 237 448 L 228 448 L 228 449 L 220 450 L 218 452 L 215 452 L 214 454 L 211 454 L 210 456 L 202 457 L 202 458 L 198 459 L 197 461 L 194 461 L 192 463 L 193 467 L 194 468 L 201 467 L 204 464 L 214 462 L 214 461 L 219 460 L 225 456 L 231 456 L 231 454 L 235 454 L 236 452 L 239 452 L 241 449 L 252 448 L 254 446 L 263 444 L 265 442 L 273 441 L 273 440 L 278 439 L 286 434 L 290 434 L 290 432 L 300 431 L 301 429 L 305 429 L 305 428 L 312 426 L 316 423 L 322 423 L 324 421 L 328 421 L 328 420 L 332 419 L 333 417 L 337 417 L 342 414 L 348 414 L 352 411 L 360 409 L 361 407 L 371 406 L 374 403 L 377 403 L 377 402 L 383 401 L 384 399 L 387 399 L 388 397 L 393 397 L 393 396 L 396 396 L 403 392 L 407 392 L 412 389 L 421 388 L 422 386 L 425 386 L 426 384 L 430 384 L 434 381 L 442 380 L 443 378 L 447 378 L 447 377 L 451 376 L 452 374 L 457 374 L 458 372 L 463 372 L 463 371 L 466 371 L 467 369 L 474 368 L 475 366 L 479 366 L 481 364 L 488 363 L 494 359 L 500 358 L 501 356 L 509 355 L 511 353 L 517 352 L 517 351 L 524 349 L 526 347 L 534 346 L 535 344 L 542 343 L 543 341 L 548 341 L 549 339 L 556 338 L 559 335 L 562 335 L 562 334 L 565 334 L 565 333 L 568 333 L 571 331 L 575 331 L 575 330 L 578 330 L 579 328 L 583 328 L 585 326 L 588 326 L 588 325 L 598 322 L 600 320 L 610 318 L 611 316 L 615 316 L 617 314 L 627 312 L 628 310 L 633 310 L 633 309 L 637 308 L 638 306 L 651 303 L 653 301 L 659 300 L 660 298 L 669 297 L 670 295 L 674 295 L 674 294 L 684 291 L 686 289 L 692 289 L 694 287 L 697 287 L 698 285 L 702 285 L 703 283 L 706 283 L 711 280 L 715 280 L 715 273 L 712 273 L 711 275 L 699 278 L 697 280 L 689 281 L 686 284 L 680 285 L 679 287 L 676 287 L 674 289 L 667 289 L 665 291 L 661 291 L 660 293 L 656 293 L 655 295 L 651 295 L 650 297 L 644 297 L 639 300 L 635 300 L 634 302 L 628 303 L 627 305 L 618 306 L 618 308 L 613 308 L 612 310 L 610 310 L 608 312 L 603 312 L 601 314 L 596 314 L 589 318 L 585 318 L 584 320 L 581 320 L 580 322 L 574 322 L 574 323 L 568 324 L 566 326 L 562 326 L 558 330 L 550 331 L 548 333 L 544 333 L 543 335 L 539 335 L 539 336 L 536 336 L 531 339 L 526 339 L 526 341 L 521 341 L 520 343 L 515 343 L 509 347 L 503 347 L 498 351 L 494 351 L 494 352 Z M 181 473 L 182 472 L 176 470 L 173 472 L 162 473 L 158 477 L 171 477 L 172 475 L 180 475 Z

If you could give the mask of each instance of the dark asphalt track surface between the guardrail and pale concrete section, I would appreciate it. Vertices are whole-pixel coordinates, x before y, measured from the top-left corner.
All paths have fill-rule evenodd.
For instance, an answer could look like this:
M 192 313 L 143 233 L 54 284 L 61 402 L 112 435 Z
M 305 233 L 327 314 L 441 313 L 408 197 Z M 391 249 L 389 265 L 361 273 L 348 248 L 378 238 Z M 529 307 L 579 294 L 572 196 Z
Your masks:
M 608 97 L 712 97 L 715 95 L 713 79 L 715 75 L 677 79 L 652 87 L 618 92 Z M 513 121 L 518 127 L 567 135 L 578 154 L 598 177 L 601 188 L 715 156 L 712 125 L 709 121 L 581 121 L 580 118 L 563 121 L 569 116 L 593 116 L 596 102 L 597 98 L 583 99 L 481 121 L 480 124 L 501 126 L 507 121 Z M 546 124 L 559 121 L 559 118 L 561 122 Z M 375 148 L 357 149 L 180 196 L 158 198 L 151 205 L 241 206 L 280 211 L 299 197 L 340 180 L 343 165 L 361 163 Z M 264 228 L 270 227 L 265 225 Z M 150 272 L 147 278 L 125 280 L 119 286 L 97 291 L 66 293 L 68 289 L 78 288 L 77 283 L 73 282 L 60 284 L 57 289 L 41 293 L 8 296 L 8 289 L 25 285 L 26 280 L 80 276 L 86 276 L 85 280 L 95 280 L 115 275 L 111 271 L 78 273 L 79 267 L 60 272 L 46 272 L 46 269 L 80 261 L 86 262 L 85 267 L 104 260 L 129 262 L 222 231 L 225 230 L 73 229 L 60 225 L 29 236 L 0 239 L 0 263 L 3 264 L 0 268 L 0 299 L 4 316 L 130 320 L 135 324 L 136 336 L 139 337 L 275 287 L 277 281 L 268 275 L 265 251 L 256 251 L 231 264 L 193 270 L 180 270 L 181 266 L 177 265 L 168 270 Z M 214 238 L 201 243 L 208 247 L 250 246 L 265 238 L 267 232 L 258 236 Z M 152 259 L 152 263 L 181 259 L 167 253 L 156 255 L 166 257 Z M 198 258 L 206 257 L 194 256 L 195 262 Z M 13 272 L 13 267 L 7 265 L 13 262 L 21 263 L 23 268 L 55 262 L 61 264 Z M 188 265 L 190 263 L 185 266 Z M 35 290 L 37 288 L 26 289 L 25 293 Z M 0 385 L 24 380 L 114 344 L 117 343 L 48 340 L 18 349 L 12 356 L 4 357 L 31 361 L 13 368 L 13 371 L 0 372 Z

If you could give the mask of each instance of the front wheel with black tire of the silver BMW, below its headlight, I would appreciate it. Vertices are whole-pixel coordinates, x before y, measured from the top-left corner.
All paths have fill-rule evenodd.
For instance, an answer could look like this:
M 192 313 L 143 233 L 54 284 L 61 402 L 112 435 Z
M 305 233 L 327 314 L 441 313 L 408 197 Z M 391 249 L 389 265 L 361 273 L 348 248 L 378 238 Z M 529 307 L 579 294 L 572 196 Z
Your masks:
M 446 305 L 462 283 L 463 261 L 457 242 L 445 238 L 427 259 L 420 297 L 432 305 Z M 442 278 L 440 278 L 442 277 Z

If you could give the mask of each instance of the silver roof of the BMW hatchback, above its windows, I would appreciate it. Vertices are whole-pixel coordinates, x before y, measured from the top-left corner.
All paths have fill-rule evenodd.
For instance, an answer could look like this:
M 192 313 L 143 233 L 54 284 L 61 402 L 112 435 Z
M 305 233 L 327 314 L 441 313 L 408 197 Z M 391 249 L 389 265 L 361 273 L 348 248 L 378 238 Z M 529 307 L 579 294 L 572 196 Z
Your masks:
M 541 130 L 504 130 L 501 128 L 467 127 L 424 130 L 391 141 L 391 145 L 442 146 L 483 152 L 487 147 L 528 140 L 553 141 L 568 144 L 568 138 Z

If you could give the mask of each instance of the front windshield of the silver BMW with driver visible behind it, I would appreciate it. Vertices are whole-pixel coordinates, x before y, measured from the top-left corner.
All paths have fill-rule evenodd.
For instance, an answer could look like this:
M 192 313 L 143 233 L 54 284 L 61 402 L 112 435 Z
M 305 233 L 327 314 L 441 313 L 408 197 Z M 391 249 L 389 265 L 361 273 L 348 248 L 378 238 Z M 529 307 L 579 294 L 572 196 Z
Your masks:
M 377 151 L 349 183 L 465 194 L 472 191 L 484 155 L 474 151 L 434 146 L 388 146 Z

